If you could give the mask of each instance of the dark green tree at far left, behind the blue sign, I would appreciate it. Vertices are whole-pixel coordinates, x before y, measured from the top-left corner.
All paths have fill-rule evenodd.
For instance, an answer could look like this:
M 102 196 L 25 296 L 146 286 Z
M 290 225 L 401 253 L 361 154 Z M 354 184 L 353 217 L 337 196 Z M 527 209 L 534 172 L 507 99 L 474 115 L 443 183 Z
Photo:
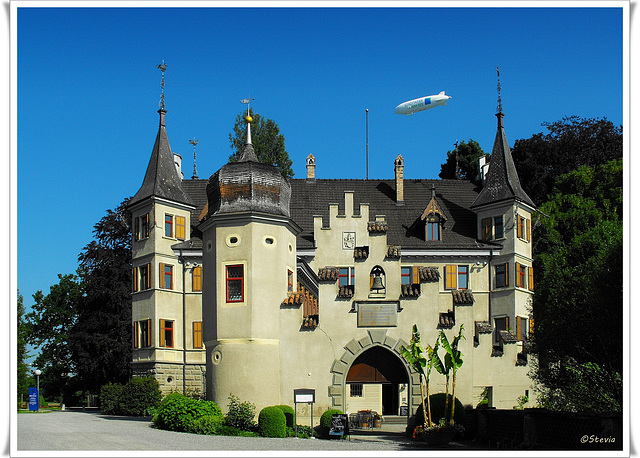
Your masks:
M 29 327 L 27 343 L 40 350 L 33 366 L 43 372 L 40 389 L 48 398 L 63 396 L 69 390 L 69 377 L 75 371 L 69 337 L 83 295 L 82 283 L 76 275 L 58 274 L 58 279 L 46 296 L 42 291 L 33 295 L 35 304 L 25 316 Z

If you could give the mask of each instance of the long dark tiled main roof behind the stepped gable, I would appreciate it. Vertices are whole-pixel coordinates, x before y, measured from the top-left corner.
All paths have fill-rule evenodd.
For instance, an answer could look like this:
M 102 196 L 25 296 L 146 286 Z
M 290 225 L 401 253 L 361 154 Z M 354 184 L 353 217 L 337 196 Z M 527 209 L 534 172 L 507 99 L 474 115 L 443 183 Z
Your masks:
M 338 213 L 344 215 L 344 192 L 353 191 L 354 213 L 360 204 L 369 204 L 369 219 L 384 215 L 387 221 L 387 242 L 403 248 L 469 249 L 492 246 L 478 242 L 476 214 L 471 204 L 479 189 L 465 180 L 404 180 L 404 205 L 395 202 L 395 180 L 329 180 L 292 179 L 291 219 L 302 228 L 298 235 L 299 249 L 314 247 L 313 217 L 322 216 L 323 226 L 329 225 L 329 204 L 338 204 Z M 196 209 L 192 211 L 192 225 L 207 203 L 207 180 L 184 180 L 185 191 L 191 196 Z M 445 214 L 442 240 L 427 242 L 425 222 L 420 219 L 431 200 L 431 186 Z

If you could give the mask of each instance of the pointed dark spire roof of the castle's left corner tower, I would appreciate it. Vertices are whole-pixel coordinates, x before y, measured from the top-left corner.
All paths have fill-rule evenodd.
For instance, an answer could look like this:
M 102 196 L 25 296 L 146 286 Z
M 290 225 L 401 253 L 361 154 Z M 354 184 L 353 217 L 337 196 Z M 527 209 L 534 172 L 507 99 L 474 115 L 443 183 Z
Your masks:
M 159 110 L 160 127 L 156 142 L 153 145 L 151 159 L 147 166 L 142 186 L 129 202 L 129 206 L 151 196 L 162 197 L 174 202 L 193 205 L 189 196 L 182 189 L 182 178 L 178 175 L 169 145 L 167 129 L 164 125 L 165 110 Z

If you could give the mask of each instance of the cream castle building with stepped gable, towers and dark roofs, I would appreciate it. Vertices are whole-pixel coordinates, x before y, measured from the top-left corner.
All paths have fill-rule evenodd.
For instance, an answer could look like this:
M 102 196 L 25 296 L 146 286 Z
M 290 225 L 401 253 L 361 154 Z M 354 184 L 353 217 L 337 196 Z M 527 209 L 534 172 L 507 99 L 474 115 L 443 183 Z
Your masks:
M 400 355 L 464 325 L 456 395 L 512 408 L 533 397 L 525 342 L 532 323 L 532 214 L 503 113 L 482 186 L 405 179 L 285 179 L 240 159 L 208 180 L 183 179 L 160 127 L 129 203 L 133 226 L 134 373 L 162 390 L 293 406 L 315 390 L 328 408 L 415 413 L 419 377 Z M 483 167 L 482 170 L 486 170 Z M 430 391 L 444 391 L 432 374 Z M 404 408 L 403 408 L 404 407 Z M 303 409 L 299 416 L 309 414 Z

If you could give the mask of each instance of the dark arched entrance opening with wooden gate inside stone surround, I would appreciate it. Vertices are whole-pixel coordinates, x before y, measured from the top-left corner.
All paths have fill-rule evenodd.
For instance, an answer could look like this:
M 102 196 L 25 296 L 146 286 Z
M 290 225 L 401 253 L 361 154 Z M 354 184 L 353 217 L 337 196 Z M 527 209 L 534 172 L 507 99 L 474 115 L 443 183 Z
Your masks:
M 408 402 L 408 383 L 407 370 L 398 357 L 382 346 L 372 346 L 355 359 L 347 372 L 347 408 L 398 415 L 400 405 Z

